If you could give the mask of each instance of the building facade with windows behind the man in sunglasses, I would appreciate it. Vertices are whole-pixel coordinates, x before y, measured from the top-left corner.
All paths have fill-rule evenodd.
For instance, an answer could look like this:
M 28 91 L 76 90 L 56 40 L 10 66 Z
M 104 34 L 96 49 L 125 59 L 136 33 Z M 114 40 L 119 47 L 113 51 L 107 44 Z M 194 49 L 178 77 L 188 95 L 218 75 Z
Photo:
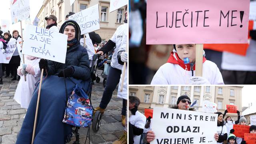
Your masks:
M 187 95 L 192 102 L 197 101 L 194 108 L 202 110 L 204 101 L 214 102 L 218 111 L 224 113 L 226 104 L 234 104 L 242 112 L 242 86 L 129 86 L 129 96 L 140 99 L 138 110 L 144 113 L 145 108 L 171 108 L 176 105 L 181 95 Z M 233 120 L 237 114 L 228 113 Z

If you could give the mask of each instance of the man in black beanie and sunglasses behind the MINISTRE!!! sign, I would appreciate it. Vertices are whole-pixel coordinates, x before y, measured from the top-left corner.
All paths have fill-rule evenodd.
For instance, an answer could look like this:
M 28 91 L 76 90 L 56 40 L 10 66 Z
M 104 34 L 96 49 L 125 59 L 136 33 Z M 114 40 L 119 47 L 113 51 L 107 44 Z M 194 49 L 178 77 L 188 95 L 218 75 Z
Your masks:
M 196 111 L 194 108 L 190 108 L 190 98 L 188 96 L 180 96 L 177 100 L 177 105 L 173 106 L 172 108 L 174 109 L 179 109 L 179 110 L 192 110 L 192 111 Z M 214 138 L 216 141 L 218 141 L 219 135 L 218 133 L 214 134 Z M 151 141 L 153 141 L 155 139 L 155 134 L 152 130 L 148 131 L 147 134 L 147 141 L 150 143 Z

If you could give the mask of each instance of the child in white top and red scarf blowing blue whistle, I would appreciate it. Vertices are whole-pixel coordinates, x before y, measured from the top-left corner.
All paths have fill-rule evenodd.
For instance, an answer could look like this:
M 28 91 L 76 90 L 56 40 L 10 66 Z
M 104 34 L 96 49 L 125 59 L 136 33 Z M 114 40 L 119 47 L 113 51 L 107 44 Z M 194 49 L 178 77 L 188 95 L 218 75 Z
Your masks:
M 202 76 L 194 76 L 196 44 L 174 44 L 166 64 L 154 75 L 151 84 L 224 84 L 220 70 L 203 57 Z

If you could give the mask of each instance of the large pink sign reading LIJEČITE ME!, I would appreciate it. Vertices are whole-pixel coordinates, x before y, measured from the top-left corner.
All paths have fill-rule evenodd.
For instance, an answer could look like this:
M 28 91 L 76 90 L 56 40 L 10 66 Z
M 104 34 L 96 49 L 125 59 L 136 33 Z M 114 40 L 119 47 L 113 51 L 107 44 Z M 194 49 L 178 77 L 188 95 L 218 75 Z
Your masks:
M 250 0 L 148 0 L 146 44 L 248 43 Z

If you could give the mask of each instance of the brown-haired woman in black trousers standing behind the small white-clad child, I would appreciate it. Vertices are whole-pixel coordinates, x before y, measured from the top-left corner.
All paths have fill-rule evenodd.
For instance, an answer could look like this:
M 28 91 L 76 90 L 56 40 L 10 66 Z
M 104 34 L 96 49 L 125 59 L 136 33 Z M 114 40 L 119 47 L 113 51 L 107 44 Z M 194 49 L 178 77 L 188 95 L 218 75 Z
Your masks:
M 19 44 L 22 41 L 18 30 L 14 30 L 12 32 L 12 38 L 10 39 L 10 41 L 16 41 L 16 44 Z M 14 53 L 12 54 L 12 58 L 9 64 L 11 66 L 12 75 L 13 75 L 12 80 L 20 80 L 20 76 L 18 76 L 17 78 L 17 69 L 18 69 L 18 66 L 20 66 L 20 55 L 18 52 L 18 48 L 14 50 Z

